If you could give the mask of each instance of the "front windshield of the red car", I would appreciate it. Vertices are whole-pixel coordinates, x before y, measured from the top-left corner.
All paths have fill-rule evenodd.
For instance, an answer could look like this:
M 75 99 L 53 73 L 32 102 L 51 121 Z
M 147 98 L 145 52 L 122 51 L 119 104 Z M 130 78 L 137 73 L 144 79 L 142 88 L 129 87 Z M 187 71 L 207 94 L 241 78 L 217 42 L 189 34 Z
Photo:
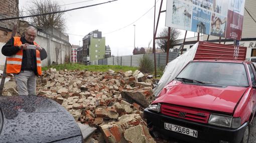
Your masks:
M 189 79 L 190 81 L 197 81 L 197 83 L 215 85 L 248 86 L 242 63 L 190 62 L 176 79 Z

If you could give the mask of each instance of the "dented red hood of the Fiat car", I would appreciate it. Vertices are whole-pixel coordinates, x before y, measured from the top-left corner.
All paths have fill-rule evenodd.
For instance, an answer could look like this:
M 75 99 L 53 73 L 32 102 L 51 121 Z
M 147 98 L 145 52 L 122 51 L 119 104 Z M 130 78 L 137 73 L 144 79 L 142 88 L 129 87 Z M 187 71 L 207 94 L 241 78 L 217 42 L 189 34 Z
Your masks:
M 170 103 L 232 113 L 247 87 L 206 86 L 173 80 L 153 103 Z

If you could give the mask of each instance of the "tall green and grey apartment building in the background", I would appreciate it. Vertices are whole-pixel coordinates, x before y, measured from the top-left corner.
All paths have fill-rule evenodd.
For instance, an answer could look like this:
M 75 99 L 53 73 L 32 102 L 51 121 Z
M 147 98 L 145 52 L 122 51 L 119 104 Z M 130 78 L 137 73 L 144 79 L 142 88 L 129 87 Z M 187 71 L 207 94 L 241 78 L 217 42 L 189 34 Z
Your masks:
M 83 52 L 79 52 L 83 56 L 83 61 L 92 61 L 105 57 L 105 37 L 101 36 L 101 31 L 94 30 L 83 38 Z

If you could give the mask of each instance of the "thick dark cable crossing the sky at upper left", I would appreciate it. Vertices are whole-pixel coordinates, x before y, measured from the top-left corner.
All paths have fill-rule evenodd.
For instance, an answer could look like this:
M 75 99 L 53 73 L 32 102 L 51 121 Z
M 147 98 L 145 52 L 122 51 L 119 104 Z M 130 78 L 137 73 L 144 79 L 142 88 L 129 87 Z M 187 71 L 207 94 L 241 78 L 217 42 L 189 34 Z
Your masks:
M 54 13 L 63 13 L 63 12 L 71 11 L 71 10 L 76 10 L 76 9 L 81 9 L 81 8 L 86 8 L 86 7 L 92 7 L 92 6 L 96 6 L 96 5 L 101 5 L 101 4 L 105 4 L 105 3 L 113 2 L 113 1 L 117 1 L 117 0 L 111 0 L 111 1 L 107 1 L 107 2 L 102 2 L 102 3 L 97 3 L 97 4 L 82 6 L 82 7 L 76 7 L 76 8 L 71 8 L 71 9 L 67 9 L 67 10 L 61 10 L 61 11 L 55 11 L 55 12 L 48 12 L 48 13 L 43 13 L 43 14 L 35 14 L 35 15 L 28 15 L 28 16 L 18 16 L 18 17 L 2 18 L 2 19 L 0 19 L 0 21 L 3 21 L 3 20 L 11 20 L 11 19 L 19 19 L 19 18 L 27 18 L 27 17 L 35 17 L 35 16 L 42 16 L 42 15 L 48 15 L 48 14 L 54 14 Z

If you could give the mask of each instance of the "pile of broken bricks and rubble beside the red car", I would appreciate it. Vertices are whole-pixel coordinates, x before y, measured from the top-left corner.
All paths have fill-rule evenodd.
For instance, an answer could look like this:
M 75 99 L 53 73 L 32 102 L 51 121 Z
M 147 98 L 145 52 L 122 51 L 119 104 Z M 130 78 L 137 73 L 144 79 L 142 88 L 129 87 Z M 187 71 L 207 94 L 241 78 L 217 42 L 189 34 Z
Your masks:
M 38 78 L 39 95 L 54 99 L 74 118 L 98 128 L 99 142 L 155 142 L 143 119 L 143 109 L 154 99 L 151 75 L 139 70 L 93 72 L 49 69 Z

